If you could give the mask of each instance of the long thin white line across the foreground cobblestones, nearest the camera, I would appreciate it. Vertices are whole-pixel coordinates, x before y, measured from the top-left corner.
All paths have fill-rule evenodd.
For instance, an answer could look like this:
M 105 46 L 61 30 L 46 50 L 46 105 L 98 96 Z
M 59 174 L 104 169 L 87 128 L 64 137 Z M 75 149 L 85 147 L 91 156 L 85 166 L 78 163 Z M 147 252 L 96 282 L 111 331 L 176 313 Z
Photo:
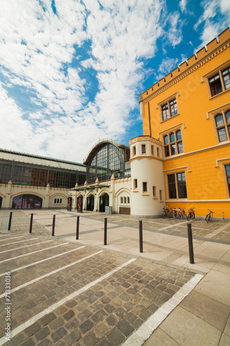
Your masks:
M 95 284 L 98 284 L 99 282 L 102 282 L 102 280 L 106 279 L 107 277 L 110 277 L 114 273 L 117 273 L 117 271 L 121 270 L 125 266 L 128 266 L 128 264 L 131 264 L 135 260 L 136 260 L 136 258 L 132 258 L 128 262 L 126 262 L 126 263 L 122 264 L 121 266 L 118 266 L 117 268 L 113 269 L 113 271 L 109 271 L 107 274 L 103 275 L 102 277 L 99 277 L 99 279 L 97 279 L 97 280 L 95 280 L 93 282 L 90 282 L 90 284 L 87 284 L 86 286 L 82 287 L 82 289 L 79 289 L 79 290 L 75 291 L 74 293 L 71 293 L 66 298 L 63 298 L 63 299 L 59 300 L 59 302 L 56 302 L 55 304 L 52 304 L 50 307 L 48 307 L 44 311 L 41 311 L 41 312 L 37 313 L 37 315 L 35 315 L 34 317 L 30 318 L 28 321 L 22 323 L 21 325 L 19 325 L 19 327 L 13 329 L 11 331 L 11 338 L 13 338 L 17 334 L 19 334 L 20 331 L 23 331 L 27 327 L 30 327 L 30 325 L 33 325 L 35 322 L 37 322 L 37 320 L 39 320 L 40 318 L 46 316 L 51 311 L 54 311 L 55 309 L 60 307 L 62 304 L 64 304 L 64 303 L 68 302 L 69 300 L 77 297 L 77 295 L 87 291 L 91 287 L 95 286 Z M 0 345 L 5 344 L 6 342 L 7 342 L 7 340 L 6 340 L 5 336 L 3 336 L 0 339 Z

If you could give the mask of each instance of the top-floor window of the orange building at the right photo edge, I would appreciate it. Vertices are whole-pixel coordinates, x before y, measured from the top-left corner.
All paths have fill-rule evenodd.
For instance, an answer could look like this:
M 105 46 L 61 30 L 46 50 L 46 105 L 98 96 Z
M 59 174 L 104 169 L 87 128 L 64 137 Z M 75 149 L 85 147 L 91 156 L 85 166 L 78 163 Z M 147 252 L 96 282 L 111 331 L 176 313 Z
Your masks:
M 230 67 L 218 71 L 216 75 L 209 78 L 209 87 L 211 96 L 218 95 L 218 93 L 228 90 L 230 88 Z

